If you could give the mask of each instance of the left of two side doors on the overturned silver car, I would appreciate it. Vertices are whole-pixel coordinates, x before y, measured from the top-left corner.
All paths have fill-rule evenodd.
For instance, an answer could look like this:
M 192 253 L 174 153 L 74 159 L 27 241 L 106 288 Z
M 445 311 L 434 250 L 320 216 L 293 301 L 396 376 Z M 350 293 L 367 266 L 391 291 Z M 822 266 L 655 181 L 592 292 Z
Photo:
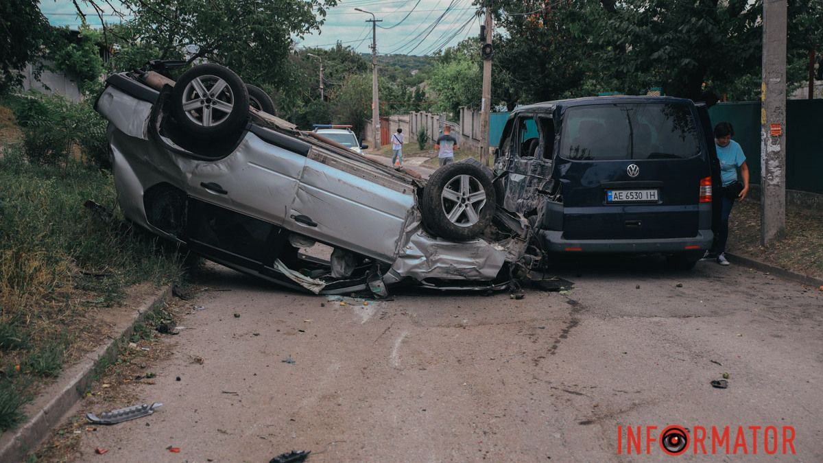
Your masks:
M 252 126 L 229 156 L 194 164 L 188 194 L 281 226 L 291 210 L 307 152 L 308 143 Z

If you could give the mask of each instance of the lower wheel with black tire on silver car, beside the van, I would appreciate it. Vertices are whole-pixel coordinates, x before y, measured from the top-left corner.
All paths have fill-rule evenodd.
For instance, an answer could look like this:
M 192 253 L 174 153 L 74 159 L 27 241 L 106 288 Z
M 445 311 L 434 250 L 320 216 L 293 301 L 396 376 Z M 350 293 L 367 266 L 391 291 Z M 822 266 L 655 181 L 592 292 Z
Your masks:
M 437 236 L 455 241 L 472 240 L 491 223 L 496 196 L 491 178 L 481 166 L 468 162 L 447 164 L 435 171 L 425 184 L 421 204 L 423 222 Z

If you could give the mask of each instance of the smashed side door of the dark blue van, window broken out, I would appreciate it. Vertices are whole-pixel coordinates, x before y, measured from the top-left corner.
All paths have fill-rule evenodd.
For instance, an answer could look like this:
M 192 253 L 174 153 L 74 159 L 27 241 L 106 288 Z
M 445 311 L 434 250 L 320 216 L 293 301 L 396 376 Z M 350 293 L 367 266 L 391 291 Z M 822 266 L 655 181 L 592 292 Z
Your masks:
M 554 124 L 549 116 L 518 115 L 509 142 L 504 207 L 525 216 L 536 213 L 539 190 L 551 173 Z

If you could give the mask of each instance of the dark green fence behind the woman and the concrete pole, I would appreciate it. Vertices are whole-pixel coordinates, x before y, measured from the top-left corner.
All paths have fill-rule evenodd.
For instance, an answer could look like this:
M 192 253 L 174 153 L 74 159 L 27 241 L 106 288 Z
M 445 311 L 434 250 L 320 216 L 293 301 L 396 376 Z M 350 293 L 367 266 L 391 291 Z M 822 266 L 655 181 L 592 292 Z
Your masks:
M 712 125 L 734 126 L 734 140 L 746 154 L 751 182 L 760 183 L 760 101 L 720 103 L 709 110 Z M 786 105 L 786 188 L 823 194 L 823 100 L 789 100 Z

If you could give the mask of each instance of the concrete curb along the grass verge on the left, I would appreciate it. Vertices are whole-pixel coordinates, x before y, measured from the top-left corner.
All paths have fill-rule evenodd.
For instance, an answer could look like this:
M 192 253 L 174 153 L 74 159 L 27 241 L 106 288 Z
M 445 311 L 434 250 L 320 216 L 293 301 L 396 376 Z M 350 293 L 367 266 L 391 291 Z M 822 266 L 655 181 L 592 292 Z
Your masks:
M 165 302 L 170 294 L 171 288 L 166 286 L 147 298 L 134 311 L 132 320 L 114 327 L 114 333 L 119 334 L 115 334 L 108 344 L 86 354 L 81 362 L 65 370 L 57 382 L 27 405 L 26 415 L 30 417 L 28 422 L 20 428 L 3 433 L 0 438 L 0 461 L 23 461 L 28 452 L 37 448 L 49 436 L 52 428 L 60 424 L 63 415 L 81 400 L 94 379 L 95 367 L 102 361 L 114 359 L 119 344 L 132 335 L 134 325 Z

